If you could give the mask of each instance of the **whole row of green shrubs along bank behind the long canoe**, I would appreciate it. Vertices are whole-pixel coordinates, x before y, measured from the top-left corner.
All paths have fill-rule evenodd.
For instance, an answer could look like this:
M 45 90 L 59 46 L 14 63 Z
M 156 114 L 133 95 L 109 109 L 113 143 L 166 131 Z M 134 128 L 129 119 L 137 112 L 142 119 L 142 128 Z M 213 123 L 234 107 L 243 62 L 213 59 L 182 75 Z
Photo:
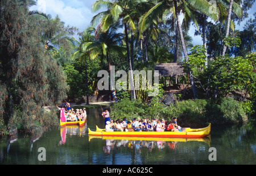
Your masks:
M 179 125 L 189 127 L 204 127 L 209 123 L 222 125 L 247 120 L 243 104 L 231 98 L 212 100 L 185 100 L 176 101 L 170 106 L 149 106 L 139 100 L 122 100 L 114 104 L 110 109 L 114 119 L 127 118 L 164 118 L 171 121 L 177 117 Z

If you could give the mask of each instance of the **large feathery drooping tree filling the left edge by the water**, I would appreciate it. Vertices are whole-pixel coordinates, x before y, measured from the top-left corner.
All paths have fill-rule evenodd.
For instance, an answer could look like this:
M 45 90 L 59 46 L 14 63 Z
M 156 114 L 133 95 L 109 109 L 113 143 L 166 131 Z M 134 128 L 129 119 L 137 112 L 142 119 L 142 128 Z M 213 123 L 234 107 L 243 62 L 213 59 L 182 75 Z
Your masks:
M 60 103 L 68 91 L 62 67 L 42 44 L 43 36 L 61 30 L 55 28 L 59 21 L 30 15 L 27 7 L 33 4 L 1 1 L 0 118 L 9 130 L 55 125 L 57 115 L 41 107 Z

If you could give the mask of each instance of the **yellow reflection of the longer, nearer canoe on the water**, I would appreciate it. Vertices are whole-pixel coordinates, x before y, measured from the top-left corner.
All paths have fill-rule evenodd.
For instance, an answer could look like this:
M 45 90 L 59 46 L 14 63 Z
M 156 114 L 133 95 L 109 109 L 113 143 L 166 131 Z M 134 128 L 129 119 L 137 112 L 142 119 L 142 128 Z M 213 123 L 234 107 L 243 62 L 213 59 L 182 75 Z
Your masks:
M 92 139 L 104 139 L 104 140 L 145 140 L 145 141 L 201 141 L 207 143 L 210 147 L 210 135 L 206 138 L 137 138 L 137 137 L 123 137 L 123 136 L 93 136 L 89 135 L 89 141 Z

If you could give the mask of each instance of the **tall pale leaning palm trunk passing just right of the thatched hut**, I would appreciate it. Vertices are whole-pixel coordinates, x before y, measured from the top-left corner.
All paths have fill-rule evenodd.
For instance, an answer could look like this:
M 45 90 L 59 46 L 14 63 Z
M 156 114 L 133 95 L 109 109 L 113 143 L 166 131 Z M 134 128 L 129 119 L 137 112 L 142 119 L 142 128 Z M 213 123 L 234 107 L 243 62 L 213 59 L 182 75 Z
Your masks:
M 181 45 L 182 45 L 182 48 L 183 48 L 183 53 L 184 53 L 185 61 L 187 62 L 188 61 L 188 53 L 187 53 L 187 49 L 186 49 L 186 46 L 185 46 L 185 41 L 184 41 L 182 29 L 181 29 L 179 13 L 177 12 L 177 1 L 176 0 L 174 0 L 174 8 L 175 8 L 175 14 L 176 14 L 176 18 L 177 18 L 177 25 L 179 27 Z M 189 68 L 189 66 L 188 66 L 188 74 L 189 74 L 189 79 L 190 79 L 191 85 L 192 85 L 193 96 L 194 96 L 194 98 L 197 98 L 196 85 L 195 85 L 195 81 L 193 79 L 192 71 Z

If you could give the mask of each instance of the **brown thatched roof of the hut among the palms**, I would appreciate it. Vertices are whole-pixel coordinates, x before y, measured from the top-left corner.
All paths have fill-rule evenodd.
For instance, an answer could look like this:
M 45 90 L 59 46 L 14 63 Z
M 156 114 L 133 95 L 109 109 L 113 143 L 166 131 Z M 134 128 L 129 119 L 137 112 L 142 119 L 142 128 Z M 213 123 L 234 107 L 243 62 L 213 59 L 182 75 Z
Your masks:
M 159 63 L 155 70 L 159 71 L 159 76 L 183 76 L 183 63 Z

